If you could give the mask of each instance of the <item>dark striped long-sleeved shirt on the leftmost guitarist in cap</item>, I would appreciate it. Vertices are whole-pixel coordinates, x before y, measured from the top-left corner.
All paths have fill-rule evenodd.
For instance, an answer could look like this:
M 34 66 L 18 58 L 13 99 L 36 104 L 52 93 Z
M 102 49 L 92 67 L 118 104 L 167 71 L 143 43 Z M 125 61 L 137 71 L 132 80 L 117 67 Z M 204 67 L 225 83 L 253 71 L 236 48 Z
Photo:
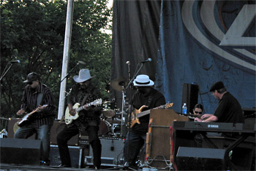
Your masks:
M 54 114 L 54 103 L 53 103 L 53 95 L 50 92 L 50 89 L 45 85 L 39 83 L 39 86 L 36 89 L 31 89 L 29 85 L 25 87 L 23 92 L 23 98 L 21 107 L 27 113 L 34 111 L 37 106 L 37 95 L 42 93 L 42 102 L 41 105 L 48 105 L 47 107 L 43 108 L 43 110 L 39 113 L 31 114 L 32 124 L 36 125 L 37 127 L 48 124 L 52 125 L 54 122 L 55 114 Z

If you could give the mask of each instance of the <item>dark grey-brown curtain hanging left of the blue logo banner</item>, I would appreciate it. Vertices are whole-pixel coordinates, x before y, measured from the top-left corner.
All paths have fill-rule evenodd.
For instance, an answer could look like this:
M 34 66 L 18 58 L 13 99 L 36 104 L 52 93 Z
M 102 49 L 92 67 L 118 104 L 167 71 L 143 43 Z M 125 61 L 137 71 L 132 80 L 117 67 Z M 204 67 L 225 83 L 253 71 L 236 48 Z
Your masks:
M 119 1 L 113 3 L 113 41 L 111 84 L 116 87 L 117 81 L 129 81 L 135 74 L 140 61 L 151 58 L 151 63 L 145 63 L 139 74 L 147 74 L 154 79 L 157 63 L 157 48 L 159 38 L 161 1 Z M 132 94 L 127 90 L 127 99 Z M 121 92 L 111 90 L 111 98 L 116 98 L 120 106 Z

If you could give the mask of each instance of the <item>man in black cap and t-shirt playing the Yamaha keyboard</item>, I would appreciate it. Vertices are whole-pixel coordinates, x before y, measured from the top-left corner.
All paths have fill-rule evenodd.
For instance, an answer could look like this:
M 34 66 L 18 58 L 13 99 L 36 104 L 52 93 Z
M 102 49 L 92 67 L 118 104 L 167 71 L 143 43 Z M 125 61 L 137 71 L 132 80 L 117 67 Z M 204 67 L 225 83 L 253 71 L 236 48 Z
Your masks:
M 214 115 L 204 114 L 201 119 L 195 118 L 197 122 L 230 122 L 244 123 L 244 114 L 240 103 L 230 92 L 227 92 L 222 81 L 211 86 L 210 92 L 214 98 L 219 100 Z

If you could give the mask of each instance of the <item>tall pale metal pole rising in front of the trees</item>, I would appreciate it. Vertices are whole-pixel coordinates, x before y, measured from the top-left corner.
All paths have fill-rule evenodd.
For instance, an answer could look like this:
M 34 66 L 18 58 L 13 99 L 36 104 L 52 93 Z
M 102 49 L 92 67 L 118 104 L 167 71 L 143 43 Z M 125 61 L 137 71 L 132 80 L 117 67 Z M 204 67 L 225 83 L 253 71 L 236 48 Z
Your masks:
M 65 39 L 64 39 L 64 52 L 63 52 L 63 61 L 62 61 L 62 71 L 61 71 L 61 80 L 67 75 L 67 68 L 69 64 L 69 49 L 71 42 L 71 33 L 72 33 L 72 17 L 74 10 L 74 1 L 69 0 L 67 2 L 67 18 L 66 18 L 66 31 L 65 31 Z M 59 111 L 58 111 L 58 119 L 64 114 L 64 105 L 65 105 L 65 92 L 67 86 L 67 79 L 61 81 L 61 88 L 59 92 Z

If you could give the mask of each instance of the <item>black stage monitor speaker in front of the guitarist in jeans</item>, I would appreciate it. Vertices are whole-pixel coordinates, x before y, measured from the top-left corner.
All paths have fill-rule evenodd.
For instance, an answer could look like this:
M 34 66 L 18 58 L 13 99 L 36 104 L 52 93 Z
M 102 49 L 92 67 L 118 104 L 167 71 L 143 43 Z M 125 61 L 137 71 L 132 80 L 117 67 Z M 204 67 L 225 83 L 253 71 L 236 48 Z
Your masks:
M 0 138 L 1 163 L 39 164 L 41 140 Z

